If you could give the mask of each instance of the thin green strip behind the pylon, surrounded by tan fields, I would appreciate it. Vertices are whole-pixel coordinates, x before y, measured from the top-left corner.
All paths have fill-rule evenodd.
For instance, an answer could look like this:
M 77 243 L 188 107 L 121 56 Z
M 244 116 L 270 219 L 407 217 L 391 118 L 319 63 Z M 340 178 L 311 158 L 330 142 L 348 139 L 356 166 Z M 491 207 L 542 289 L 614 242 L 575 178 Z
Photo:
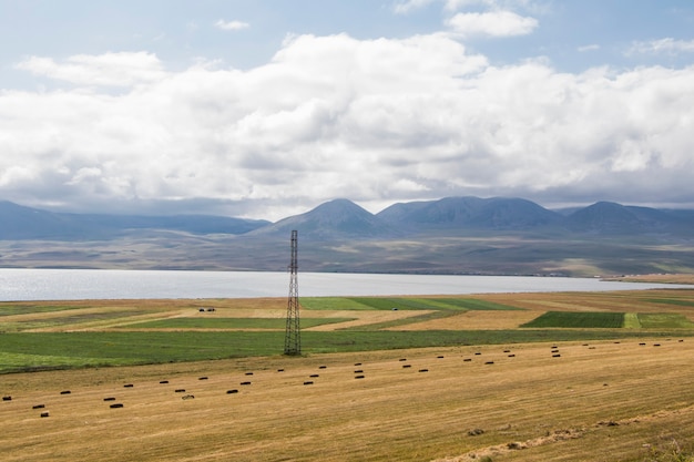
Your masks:
M 346 322 L 356 318 L 302 318 L 302 328 Z M 170 318 L 121 326 L 123 329 L 285 329 L 286 318 Z

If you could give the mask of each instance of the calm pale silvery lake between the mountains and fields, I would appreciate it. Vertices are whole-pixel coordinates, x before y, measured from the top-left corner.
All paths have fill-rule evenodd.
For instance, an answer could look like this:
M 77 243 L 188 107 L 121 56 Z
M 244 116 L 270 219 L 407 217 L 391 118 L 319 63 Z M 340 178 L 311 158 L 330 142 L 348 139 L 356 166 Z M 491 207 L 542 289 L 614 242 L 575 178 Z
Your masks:
M 299 297 L 594 291 L 691 286 L 588 278 L 299 273 Z M 286 297 L 288 273 L 0 268 L 0 300 Z

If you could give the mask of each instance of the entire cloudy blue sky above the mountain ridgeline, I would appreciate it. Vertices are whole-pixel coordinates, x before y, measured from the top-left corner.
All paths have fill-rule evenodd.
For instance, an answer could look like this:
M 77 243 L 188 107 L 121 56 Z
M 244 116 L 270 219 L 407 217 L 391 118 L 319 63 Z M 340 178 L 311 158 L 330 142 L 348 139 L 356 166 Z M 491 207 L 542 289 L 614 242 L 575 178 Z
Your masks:
M 694 208 L 691 0 L 0 0 L 0 201 Z

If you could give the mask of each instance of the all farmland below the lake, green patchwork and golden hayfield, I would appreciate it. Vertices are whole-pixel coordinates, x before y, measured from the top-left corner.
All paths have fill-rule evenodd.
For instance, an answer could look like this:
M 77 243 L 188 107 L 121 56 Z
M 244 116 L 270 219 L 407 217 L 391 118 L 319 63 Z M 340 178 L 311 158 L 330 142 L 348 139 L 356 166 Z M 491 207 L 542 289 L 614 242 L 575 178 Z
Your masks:
M 694 290 L 285 304 L 0 304 L 3 460 L 694 453 Z

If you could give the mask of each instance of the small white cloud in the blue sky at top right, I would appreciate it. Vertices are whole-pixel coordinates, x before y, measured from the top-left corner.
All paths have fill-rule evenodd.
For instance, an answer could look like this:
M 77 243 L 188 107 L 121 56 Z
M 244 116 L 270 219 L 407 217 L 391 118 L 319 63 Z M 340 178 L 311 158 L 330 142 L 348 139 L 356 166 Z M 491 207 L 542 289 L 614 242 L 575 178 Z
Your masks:
M 446 21 L 455 33 L 462 37 L 513 37 L 527 35 L 538 25 L 538 20 L 512 11 L 484 13 L 457 13 Z

